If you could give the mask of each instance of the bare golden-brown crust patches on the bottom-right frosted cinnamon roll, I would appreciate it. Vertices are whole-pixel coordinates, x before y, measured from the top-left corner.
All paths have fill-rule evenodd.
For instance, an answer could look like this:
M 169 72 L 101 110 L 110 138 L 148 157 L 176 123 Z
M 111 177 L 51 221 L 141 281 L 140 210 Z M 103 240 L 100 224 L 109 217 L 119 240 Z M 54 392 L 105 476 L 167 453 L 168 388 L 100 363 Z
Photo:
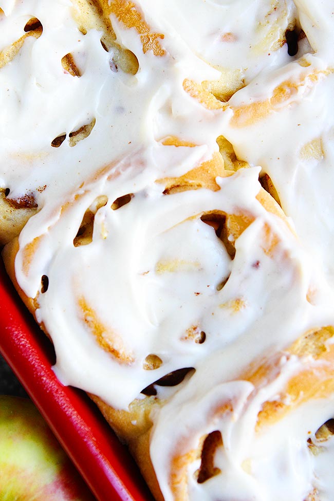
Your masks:
M 334 327 L 326 326 L 312 329 L 300 336 L 285 351 L 277 352 L 273 357 L 256 361 L 249 370 L 240 374 L 239 379 L 250 381 L 256 392 L 263 384 L 268 384 L 277 376 L 282 356 L 298 356 L 301 369 L 293 374 L 287 381 L 282 393 L 275 400 L 265 401 L 257 415 L 255 431 L 259 432 L 266 426 L 283 419 L 296 407 L 312 399 L 322 399 L 334 394 Z M 226 401 L 212 410 L 211 419 L 221 415 L 233 413 L 232 402 Z M 333 434 L 332 420 L 328 426 L 322 426 L 317 432 L 317 438 L 324 440 Z M 325 423 L 326 424 L 326 423 Z M 215 433 L 215 432 L 214 432 Z M 214 476 L 216 472 L 211 467 L 212 447 L 206 448 L 207 438 L 212 434 L 201 437 L 197 449 L 193 449 L 187 442 L 192 442 L 191 437 L 186 437 L 171 459 L 170 486 L 175 501 L 188 499 L 187 472 L 191 462 L 201 458 L 205 463 L 205 474 Z M 221 437 L 220 437 L 221 438 Z M 210 440 L 210 443 L 212 440 Z M 218 435 L 214 437 L 214 450 L 223 447 Z M 307 499 L 313 499 L 313 497 Z

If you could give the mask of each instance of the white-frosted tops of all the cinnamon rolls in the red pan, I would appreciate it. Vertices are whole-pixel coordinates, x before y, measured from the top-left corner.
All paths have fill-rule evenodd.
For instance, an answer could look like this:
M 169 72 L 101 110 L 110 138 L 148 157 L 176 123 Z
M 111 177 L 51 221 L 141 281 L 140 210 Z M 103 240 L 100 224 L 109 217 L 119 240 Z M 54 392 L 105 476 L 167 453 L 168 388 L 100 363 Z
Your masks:
M 146 409 L 165 501 L 331 501 L 331 2 L 0 8 L 4 255 L 60 380 Z

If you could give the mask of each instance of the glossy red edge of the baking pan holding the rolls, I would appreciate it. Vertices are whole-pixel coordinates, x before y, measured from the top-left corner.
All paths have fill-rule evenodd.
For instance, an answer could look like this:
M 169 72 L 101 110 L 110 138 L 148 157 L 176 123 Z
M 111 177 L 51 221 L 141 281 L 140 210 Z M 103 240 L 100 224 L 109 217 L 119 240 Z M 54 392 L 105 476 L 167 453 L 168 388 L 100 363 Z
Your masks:
M 98 501 L 153 501 L 138 467 L 84 392 L 63 386 L 54 350 L 0 260 L 0 351 Z

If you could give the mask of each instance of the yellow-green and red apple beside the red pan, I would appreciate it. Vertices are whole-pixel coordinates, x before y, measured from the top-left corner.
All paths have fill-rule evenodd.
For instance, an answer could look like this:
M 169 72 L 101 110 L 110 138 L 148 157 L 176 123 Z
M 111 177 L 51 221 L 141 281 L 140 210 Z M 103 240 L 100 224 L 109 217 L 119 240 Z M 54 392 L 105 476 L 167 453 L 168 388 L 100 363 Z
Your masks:
M 0 499 L 95 500 L 33 403 L 4 395 L 0 395 Z

